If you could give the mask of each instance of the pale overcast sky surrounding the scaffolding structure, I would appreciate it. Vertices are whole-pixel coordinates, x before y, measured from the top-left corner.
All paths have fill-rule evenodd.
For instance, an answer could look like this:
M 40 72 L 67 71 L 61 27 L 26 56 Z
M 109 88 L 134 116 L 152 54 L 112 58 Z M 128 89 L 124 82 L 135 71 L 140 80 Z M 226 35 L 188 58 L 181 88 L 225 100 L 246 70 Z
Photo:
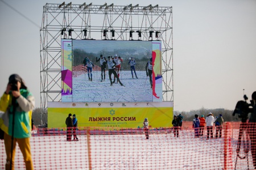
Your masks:
M 6 3 L 8 5 L 6 5 Z M 18 73 L 40 107 L 40 25 L 43 6 L 63 1 L 0 0 L 0 94 Z M 137 5 L 138 1 L 72 1 Z M 69 3 L 69 2 L 65 2 Z M 139 1 L 173 7 L 174 110 L 233 110 L 256 91 L 256 1 Z M 244 91 L 243 91 L 244 89 Z

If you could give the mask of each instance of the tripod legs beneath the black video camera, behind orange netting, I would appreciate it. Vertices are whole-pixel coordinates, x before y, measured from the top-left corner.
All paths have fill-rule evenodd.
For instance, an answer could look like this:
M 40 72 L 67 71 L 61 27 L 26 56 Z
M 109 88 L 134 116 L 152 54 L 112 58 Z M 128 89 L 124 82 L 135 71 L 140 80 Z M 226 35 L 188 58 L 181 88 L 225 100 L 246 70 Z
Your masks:
M 248 152 L 249 152 L 249 135 L 247 131 L 247 122 L 242 122 L 239 128 L 239 135 L 238 135 L 238 143 L 237 143 L 237 158 L 245 159 L 247 158 L 247 168 L 249 169 L 249 161 L 248 161 Z M 241 151 L 242 149 L 242 151 Z M 236 165 L 237 167 L 237 158 L 236 158 Z

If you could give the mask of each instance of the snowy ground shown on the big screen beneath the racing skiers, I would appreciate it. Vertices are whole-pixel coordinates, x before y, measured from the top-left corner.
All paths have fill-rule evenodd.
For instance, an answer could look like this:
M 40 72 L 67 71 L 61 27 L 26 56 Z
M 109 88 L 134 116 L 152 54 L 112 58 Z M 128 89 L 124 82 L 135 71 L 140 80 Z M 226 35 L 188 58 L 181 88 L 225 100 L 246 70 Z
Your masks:
M 108 71 L 106 71 L 104 82 L 101 82 L 101 71 L 92 73 L 92 81 L 89 81 L 88 74 L 73 77 L 73 102 L 150 102 L 153 100 L 150 80 L 146 76 L 146 71 L 136 71 L 138 79 L 135 75 L 132 78 L 131 71 L 121 71 L 119 79 L 124 86 L 117 83 L 117 79 L 113 86 L 110 86 Z M 113 74 L 112 80 L 114 80 Z M 161 82 L 162 79 L 156 81 Z M 162 96 L 162 90 L 159 96 Z

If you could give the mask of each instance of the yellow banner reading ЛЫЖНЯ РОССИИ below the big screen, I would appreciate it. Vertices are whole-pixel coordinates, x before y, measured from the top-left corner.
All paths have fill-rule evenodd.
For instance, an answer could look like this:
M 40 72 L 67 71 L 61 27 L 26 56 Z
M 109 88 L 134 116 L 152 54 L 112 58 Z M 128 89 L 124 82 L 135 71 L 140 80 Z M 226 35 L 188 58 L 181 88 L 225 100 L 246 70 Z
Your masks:
M 160 105 L 165 103 L 167 105 Z M 116 103 L 114 103 L 117 105 Z M 155 105 L 160 105 L 156 107 Z M 70 105 L 70 107 L 69 107 Z M 74 106 L 75 105 L 75 106 Z M 113 104 L 112 104 L 113 105 Z M 146 104 L 145 104 L 146 105 Z M 123 104 L 116 107 L 102 107 L 98 105 L 82 105 L 66 103 L 59 107 L 48 105 L 48 128 L 65 128 L 68 114 L 76 114 L 79 127 L 110 127 L 114 129 L 142 128 L 144 118 L 148 118 L 151 129 L 166 128 L 171 126 L 173 107 L 168 102 L 157 102 L 141 107 L 129 107 Z

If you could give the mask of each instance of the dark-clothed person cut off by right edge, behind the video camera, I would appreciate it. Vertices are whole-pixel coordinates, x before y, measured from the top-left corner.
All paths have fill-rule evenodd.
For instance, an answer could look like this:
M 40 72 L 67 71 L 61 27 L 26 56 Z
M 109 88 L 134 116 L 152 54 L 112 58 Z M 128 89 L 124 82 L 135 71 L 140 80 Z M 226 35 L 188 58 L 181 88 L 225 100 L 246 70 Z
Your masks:
M 254 169 L 256 169 L 256 91 L 253 92 L 251 95 L 251 107 L 249 108 L 249 113 L 251 113 L 249 124 L 248 124 L 248 131 L 251 139 L 251 155 L 253 156 L 253 165 Z

